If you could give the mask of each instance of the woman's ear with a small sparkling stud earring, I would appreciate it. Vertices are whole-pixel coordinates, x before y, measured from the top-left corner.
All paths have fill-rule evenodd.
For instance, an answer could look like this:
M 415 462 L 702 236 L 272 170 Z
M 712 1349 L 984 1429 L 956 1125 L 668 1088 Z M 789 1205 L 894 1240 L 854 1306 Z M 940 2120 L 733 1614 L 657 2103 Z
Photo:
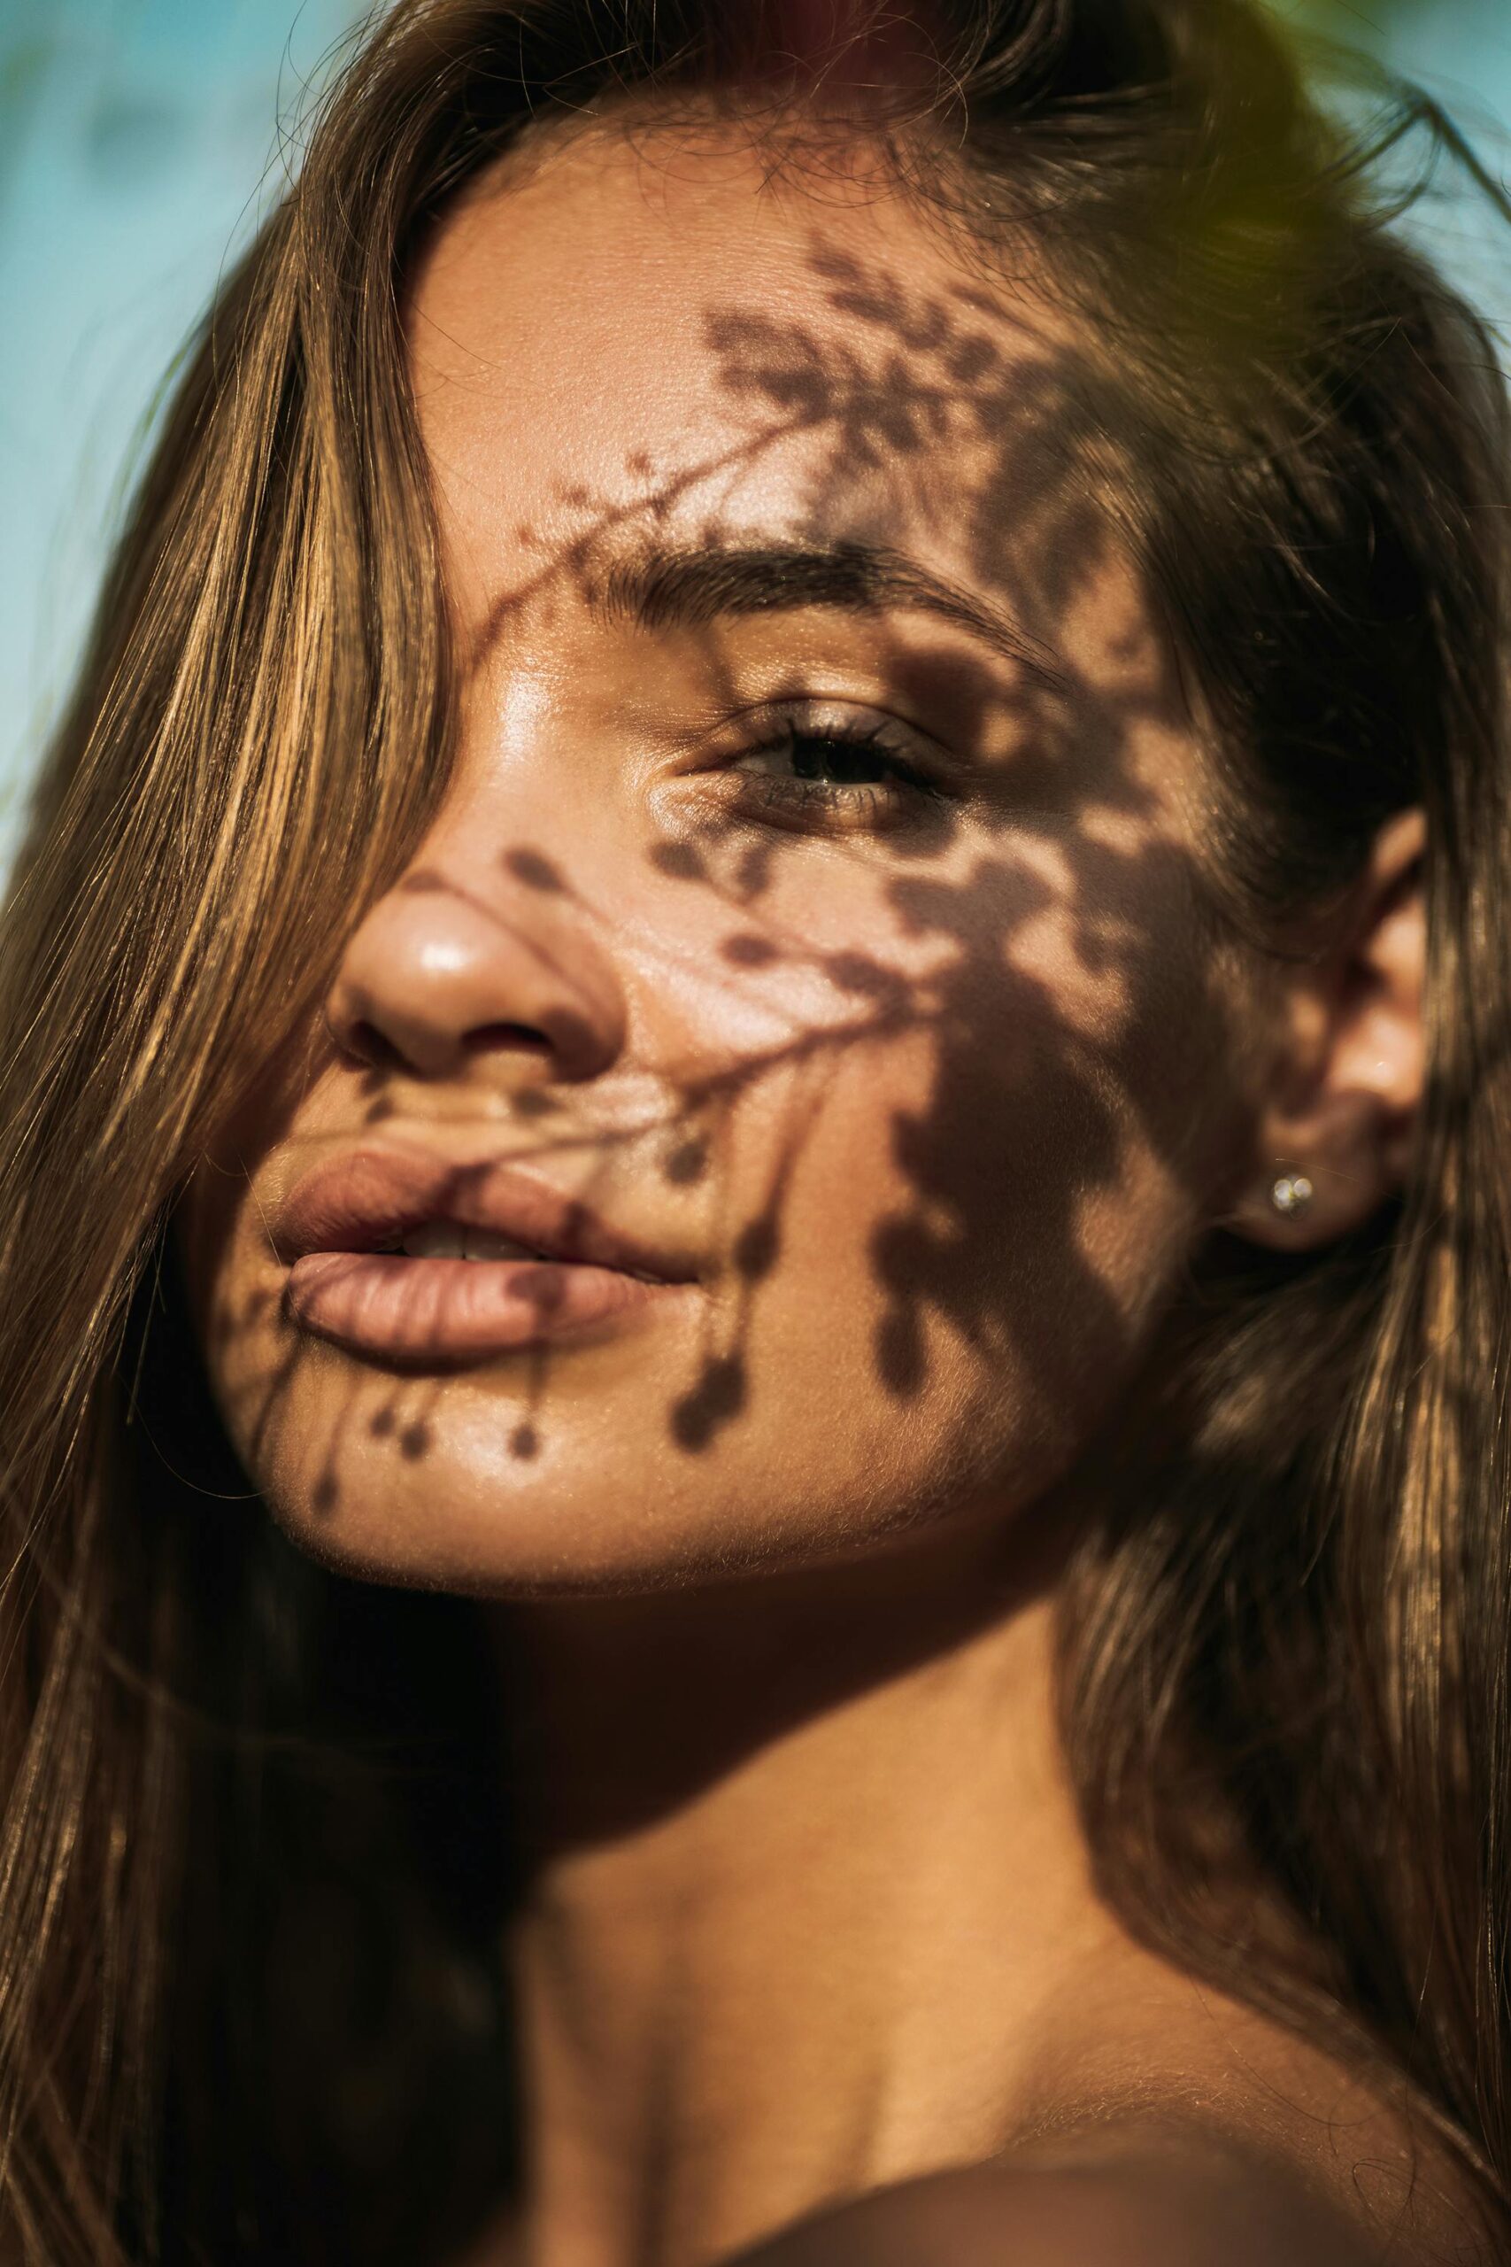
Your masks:
M 1407 1174 L 1423 1099 L 1425 839 L 1420 809 L 1386 821 L 1343 927 L 1284 982 L 1253 1172 L 1223 1222 L 1250 1242 L 1332 1242 Z

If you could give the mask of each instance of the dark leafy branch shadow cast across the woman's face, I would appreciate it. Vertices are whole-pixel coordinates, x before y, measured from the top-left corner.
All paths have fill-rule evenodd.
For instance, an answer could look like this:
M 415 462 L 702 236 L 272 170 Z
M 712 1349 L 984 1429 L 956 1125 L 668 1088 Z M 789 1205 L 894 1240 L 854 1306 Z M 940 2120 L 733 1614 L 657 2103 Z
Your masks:
M 766 1195 L 725 1238 L 732 1322 L 709 1335 L 698 1374 L 668 1399 L 668 1455 L 711 1451 L 748 1415 L 748 1335 L 791 1254 L 784 1213 L 804 1129 L 847 1063 L 902 1034 L 927 1034 L 933 1072 L 927 1104 L 897 1111 L 890 1124 L 911 1197 L 870 1229 L 870 1267 L 886 1304 L 874 1378 L 904 1412 L 929 1385 L 929 1338 L 942 1326 L 983 1360 L 1013 1362 L 1051 1426 L 1072 1421 L 1085 1349 L 1101 1349 L 1112 1365 L 1126 1353 L 1119 1301 L 1083 1240 L 1087 1197 L 1117 1188 L 1135 1138 L 1171 1177 L 1189 1172 L 1196 1097 L 1223 1041 L 1217 1000 L 1171 968 L 1164 916 L 1201 898 L 1201 877 L 1189 848 L 1160 830 L 1139 766 L 1142 735 L 1189 730 L 1173 662 L 1149 614 L 1108 635 L 1094 666 L 1076 660 L 1081 648 L 1067 639 L 1067 628 L 1094 612 L 1119 560 L 1108 508 L 1112 410 L 1090 356 L 1026 324 L 1004 324 L 970 288 L 917 290 L 822 243 L 811 261 L 827 322 L 741 306 L 707 313 L 705 347 L 739 438 L 718 458 L 668 476 L 639 458 L 630 501 L 573 487 L 562 499 L 573 533 L 548 553 L 537 544 L 537 569 L 496 603 L 478 637 L 478 648 L 494 648 L 526 612 L 548 619 L 553 608 L 584 601 L 612 608 L 625 562 L 659 540 L 673 512 L 686 519 L 711 483 L 725 501 L 698 519 L 695 542 L 711 553 L 734 542 L 729 494 L 777 447 L 800 444 L 804 544 L 831 551 L 838 530 L 843 546 L 868 515 L 874 524 L 865 499 L 881 494 L 883 510 L 904 515 L 913 535 L 947 542 L 963 558 L 961 580 L 1017 626 L 1031 657 L 1047 657 L 1042 669 L 1006 671 L 985 655 L 951 660 L 956 730 L 965 744 L 1004 750 L 1001 787 L 972 814 L 967 873 L 951 857 L 961 827 L 951 812 L 888 843 L 890 918 L 917 948 L 913 963 L 927 957 L 927 975 L 852 945 L 811 943 L 779 909 L 793 837 L 748 818 L 707 821 L 657 841 L 650 866 L 668 886 L 727 909 L 711 973 L 727 986 L 770 984 L 772 973 L 820 977 L 836 1013 L 686 1077 L 652 1127 L 605 1134 L 564 1084 L 532 1081 L 517 1095 L 523 1138 L 510 1156 L 544 1172 L 555 1161 L 589 1206 L 600 1190 L 646 1172 L 668 1190 L 707 1186 L 718 1174 L 720 1129 L 739 1109 L 775 1090 L 788 1097 Z M 897 639 L 888 666 L 902 705 L 924 691 L 913 678 L 929 662 L 915 646 Z M 705 669 L 716 698 L 739 705 L 734 680 L 720 685 L 716 623 L 707 626 Z M 1047 848 L 1056 852 L 1053 877 Z M 560 839 L 501 846 L 496 873 L 496 893 L 469 891 L 487 920 L 532 939 L 535 950 L 546 923 L 580 923 L 614 952 L 612 911 L 578 891 Z M 410 868 L 399 886 L 462 889 L 426 868 Z M 1024 939 L 1047 920 L 1060 925 L 1076 979 L 1112 1002 L 1103 1027 L 1069 1016 L 1056 984 L 1024 954 Z M 566 1043 L 571 1034 L 546 1038 Z M 1167 1068 L 1130 1077 L 1139 1063 Z M 374 1127 L 392 1109 L 390 1070 L 403 1065 L 378 1063 L 365 1079 Z M 1008 1197 L 1031 1220 L 1033 1265 L 1004 1263 Z M 553 1297 L 548 1281 L 541 1297 Z M 1062 1315 L 1076 1317 L 1074 1331 L 1060 1328 Z M 526 1408 L 512 1451 L 530 1460 L 548 1424 L 548 1349 L 532 1349 L 521 1367 Z M 285 1383 L 285 1374 L 267 1381 L 270 1408 Z M 410 1378 L 396 1392 L 394 1408 L 367 1424 L 419 1460 L 444 1381 Z M 338 1435 L 340 1426 L 322 1510 L 340 1498 Z

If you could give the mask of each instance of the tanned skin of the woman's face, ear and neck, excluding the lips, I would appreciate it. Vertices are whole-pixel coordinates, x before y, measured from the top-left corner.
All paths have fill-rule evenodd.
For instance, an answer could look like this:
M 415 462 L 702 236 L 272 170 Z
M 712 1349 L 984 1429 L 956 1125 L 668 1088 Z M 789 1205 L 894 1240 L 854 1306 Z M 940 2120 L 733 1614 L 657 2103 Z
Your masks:
M 1049 1621 L 1201 1238 L 1325 1240 L 1400 1172 L 1414 823 L 1337 959 L 1217 945 L 1090 345 L 865 165 L 768 172 L 575 136 L 442 222 L 408 331 L 455 771 L 183 1213 L 274 1517 L 492 1601 L 530 2190 L 467 2267 L 693 2267 L 1139 2095 L 1343 2199 L 1368 2136 L 1393 2208 L 1361 2097 L 1099 1904 Z M 267 1224 L 356 1145 L 523 1163 L 695 1281 L 353 1353 Z

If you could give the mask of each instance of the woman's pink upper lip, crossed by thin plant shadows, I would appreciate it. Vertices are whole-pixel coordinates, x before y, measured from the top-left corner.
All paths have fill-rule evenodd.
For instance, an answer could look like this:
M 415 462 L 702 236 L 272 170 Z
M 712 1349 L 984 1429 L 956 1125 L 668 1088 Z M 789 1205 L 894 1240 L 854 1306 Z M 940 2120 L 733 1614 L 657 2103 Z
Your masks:
M 553 1260 L 618 1267 L 659 1283 L 695 1279 L 686 1251 L 609 1226 L 578 1197 L 489 1156 L 458 1161 L 376 1145 L 342 1149 L 299 1174 L 274 1206 L 270 1226 L 279 1258 L 294 1260 L 306 1251 L 374 1251 L 437 1220 L 494 1229 Z

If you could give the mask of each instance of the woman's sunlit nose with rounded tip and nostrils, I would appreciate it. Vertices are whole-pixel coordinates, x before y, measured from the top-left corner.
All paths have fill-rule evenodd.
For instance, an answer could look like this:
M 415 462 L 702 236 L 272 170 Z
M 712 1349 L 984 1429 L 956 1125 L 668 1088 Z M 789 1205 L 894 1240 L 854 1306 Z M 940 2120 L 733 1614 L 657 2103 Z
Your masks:
M 625 993 L 557 882 L 501 875 L 483 895 L 430 871 L 372 907 L 326 1022 L 344 1054 L 428 1079 L 460 1077 L 494 1050 L 539 1056 L 539 1077 L 594 1079 L 623 1050 Z

